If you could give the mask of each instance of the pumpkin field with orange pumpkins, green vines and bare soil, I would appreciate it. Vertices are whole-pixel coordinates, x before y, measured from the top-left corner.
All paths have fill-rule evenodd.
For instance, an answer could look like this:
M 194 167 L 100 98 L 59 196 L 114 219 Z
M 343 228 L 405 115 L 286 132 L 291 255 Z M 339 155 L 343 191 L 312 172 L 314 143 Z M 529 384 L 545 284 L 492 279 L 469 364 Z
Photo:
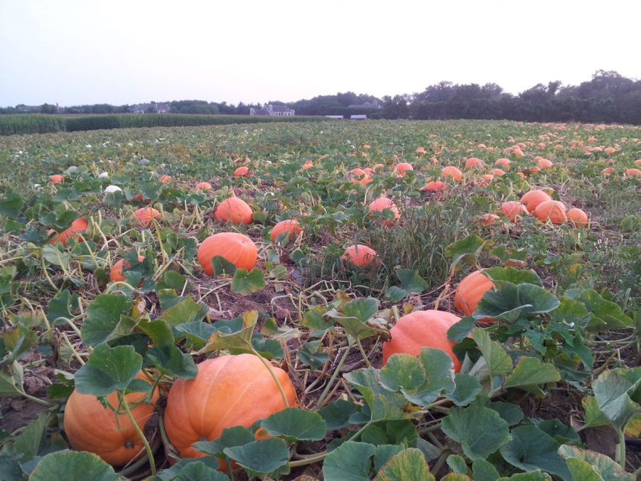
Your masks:
M 641 128 L 0 137 L 0 480 L 635 480 Z

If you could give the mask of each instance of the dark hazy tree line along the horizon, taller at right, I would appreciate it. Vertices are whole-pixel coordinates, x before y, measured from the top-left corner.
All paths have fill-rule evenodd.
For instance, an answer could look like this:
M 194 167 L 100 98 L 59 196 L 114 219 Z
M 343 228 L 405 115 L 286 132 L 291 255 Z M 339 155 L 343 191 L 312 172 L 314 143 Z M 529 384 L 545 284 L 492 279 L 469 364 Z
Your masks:
M 152 102 L 154 103 L 154 102 Z M 171 113 L 199 115 L 248 115 L 260 103 L 237 105 L 207 100 L 165 102 Z M 277 100 L 266 104 L 283 104 Z M 375 108 L 354 107 L 377 103 Z M 560 81 L 538 83 L 518 95 L 504 92 L 496 83 L 440 82 L 412 94 L 372 95 L 353 92 L 319 95 L 286 103 L 296 115 L 366 114 L 368 118 L 418 120 L 506 119 L 527 122 L 626 123 L 641 125 L 641 81 L 615 71 L 596 71 L 590 81 L 578 86 L 563 86 Z M 75 105 L 60 111 L 55 105 L 41 105 L 40 113 L 127 113 L 129 105 Z M 28 112 L 28 110 L 27 110 Z M 23 105 L 0 108 L 0 113 L 25 113 Z M 33 113 L 33 110 L 31 111 Z

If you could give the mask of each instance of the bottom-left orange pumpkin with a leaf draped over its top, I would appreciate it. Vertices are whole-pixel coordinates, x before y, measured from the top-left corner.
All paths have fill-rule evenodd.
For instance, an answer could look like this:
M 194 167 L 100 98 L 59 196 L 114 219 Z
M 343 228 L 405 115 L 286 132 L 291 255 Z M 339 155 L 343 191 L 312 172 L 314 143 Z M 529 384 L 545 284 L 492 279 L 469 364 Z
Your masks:
M 138 379 L 147 381 L 143 373 Z M 110 405 L 118 406 L 118 393 L 106 396 Z M 125 399 L 129 405 L 137 403 L 145 393 L 128 393 Z M 142 429 L 154 413 L 159 398 L 158 390 L 152 395 L 152 403 L 140 403 L 131 409 L 136 424 Z M 65 407 L 65 433 L 73 449 L 89 451 L 100 456 L 112 466 L 123 466 L 145 455 L 145 448 L 126 414 L 116 414 L 105 408 L 95 395 L 73 391 Z

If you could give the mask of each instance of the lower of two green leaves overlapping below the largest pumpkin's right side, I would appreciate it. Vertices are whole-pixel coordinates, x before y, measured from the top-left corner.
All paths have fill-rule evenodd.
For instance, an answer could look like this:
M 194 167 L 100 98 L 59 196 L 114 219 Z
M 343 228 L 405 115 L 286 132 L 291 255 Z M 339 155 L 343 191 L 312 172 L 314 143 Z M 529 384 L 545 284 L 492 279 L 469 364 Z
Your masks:
M 254 441 L 234 448 L 225 448 L 223 452 L 244 467 L 250 477 L 289 472 L 289 450 L 281 439 Z

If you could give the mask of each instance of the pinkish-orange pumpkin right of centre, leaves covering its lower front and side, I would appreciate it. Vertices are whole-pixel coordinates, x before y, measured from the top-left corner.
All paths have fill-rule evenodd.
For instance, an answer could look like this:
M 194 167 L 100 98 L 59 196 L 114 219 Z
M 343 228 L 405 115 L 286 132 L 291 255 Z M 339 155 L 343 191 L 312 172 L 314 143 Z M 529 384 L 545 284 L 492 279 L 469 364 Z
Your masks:
M 383 364 L 392 354 L 407 353 L 417 356 L 422 347 L 437 348 L 449 354 L 454 372 L 461 371 L 461 361 L 454 354 L 454 341 L 448 341 L 447 330 L 460 321 L 459 316 L 444 311 L 414 311 L 402 316 L 390 329 L 391 341 L 382 345 Z

